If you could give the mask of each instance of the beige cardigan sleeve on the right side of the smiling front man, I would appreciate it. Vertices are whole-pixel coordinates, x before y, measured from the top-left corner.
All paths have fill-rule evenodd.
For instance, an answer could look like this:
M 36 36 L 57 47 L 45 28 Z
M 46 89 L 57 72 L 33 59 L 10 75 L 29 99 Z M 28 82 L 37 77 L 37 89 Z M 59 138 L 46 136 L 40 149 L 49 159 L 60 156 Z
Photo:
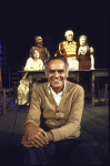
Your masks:
M 53 134 L 53 142 L 66 139 L 69 137 L 76 137 L 78 131 L 80 129 L 80 122 L 83 111 L 84 103 L 84 91 L 81 86 L 74 93 L 73 102 L 71 105 L 70 115 L 66 125 L 51 129 Z

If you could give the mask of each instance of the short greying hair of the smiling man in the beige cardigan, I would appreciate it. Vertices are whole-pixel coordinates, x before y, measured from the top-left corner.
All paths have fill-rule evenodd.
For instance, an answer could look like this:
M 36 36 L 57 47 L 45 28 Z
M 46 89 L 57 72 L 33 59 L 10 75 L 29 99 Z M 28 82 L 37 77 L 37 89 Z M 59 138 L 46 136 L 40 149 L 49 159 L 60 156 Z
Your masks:
M 53 58 L 50 58 L 46 63 L 44 63 L 44 73 L 47 75 L 47 71 L 48 71 L 48 64 L 50 61 L 54 61 L 54 60 L 62 60 L 66 64 L 66 69 L 67 69 L 67 73 L 69 73 L 69 63 L 66 59 L 63 58 L 59 58 L 59 56 L 53 56 Z

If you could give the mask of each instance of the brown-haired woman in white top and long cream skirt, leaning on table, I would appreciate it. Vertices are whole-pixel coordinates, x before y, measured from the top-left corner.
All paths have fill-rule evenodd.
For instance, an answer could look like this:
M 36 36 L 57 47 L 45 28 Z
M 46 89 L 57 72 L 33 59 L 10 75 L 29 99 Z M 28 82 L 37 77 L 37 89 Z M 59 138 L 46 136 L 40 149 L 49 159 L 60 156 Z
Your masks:
M 24 71 L 26 74 L 18 86 L 18 105 L 29 105 L 29 80 L 28 71 L 43 70 L 43 62 L 39 59 L 39 50 L 36 46 L 30 49 L 30 58 L 27 60 Z

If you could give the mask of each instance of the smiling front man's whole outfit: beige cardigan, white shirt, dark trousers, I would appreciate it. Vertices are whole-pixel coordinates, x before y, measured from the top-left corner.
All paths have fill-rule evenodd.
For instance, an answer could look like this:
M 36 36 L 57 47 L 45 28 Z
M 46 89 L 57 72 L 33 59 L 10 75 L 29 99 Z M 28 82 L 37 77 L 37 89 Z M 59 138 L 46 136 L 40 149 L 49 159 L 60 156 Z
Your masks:
M 57 94 L 56 94 L 57 95 Z M 99 165 L 100 162 L 80 137 L 80 122 L 83 110 L 83 89 L 67 81 L 64 89 L 56 96 L 49 83 L 37 86 L 24 123 L 32 123 L 44 131 L 51 131 L 53 142 L 44 147 L 26 148 L 26 165 Z M 60 98 L 58 102 L 57 98 Z

